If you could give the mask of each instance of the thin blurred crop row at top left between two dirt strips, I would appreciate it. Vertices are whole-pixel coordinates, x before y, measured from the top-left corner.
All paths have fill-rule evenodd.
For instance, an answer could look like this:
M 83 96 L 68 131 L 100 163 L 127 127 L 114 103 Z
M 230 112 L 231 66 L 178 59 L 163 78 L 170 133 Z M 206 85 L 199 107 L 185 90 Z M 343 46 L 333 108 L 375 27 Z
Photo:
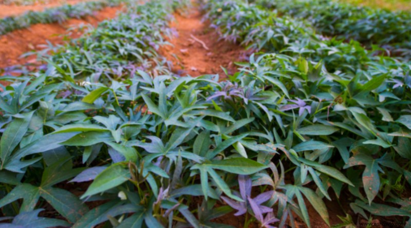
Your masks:
M 117 6 L 124 0 L 98 0 L 84 2 L 76 5 L 63 5 L 60 7 L 45 9 L 44 11 L 29 11 L 23 15 L 0 18 L 0 35 L 16 29 L 27 28 L 34 24 L 62 23 L 69 18 L 82 18 L 90 16 L 95 11 L 104 7 Z

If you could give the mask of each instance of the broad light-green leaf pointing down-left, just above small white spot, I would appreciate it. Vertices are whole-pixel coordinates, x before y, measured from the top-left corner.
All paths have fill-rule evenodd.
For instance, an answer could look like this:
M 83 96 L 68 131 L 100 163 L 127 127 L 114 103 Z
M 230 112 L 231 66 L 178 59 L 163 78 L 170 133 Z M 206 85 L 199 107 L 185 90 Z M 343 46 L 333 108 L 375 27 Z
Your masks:
M 80 197 L 84 199 L 88 196 L 102 193 L 108 189 L 117 187 L 130 178 L 130 172 L 122 167 L 121 163 L 110 165 L 103 172 L 97 175 L 96 179 L 90 184 L 87 191 Z

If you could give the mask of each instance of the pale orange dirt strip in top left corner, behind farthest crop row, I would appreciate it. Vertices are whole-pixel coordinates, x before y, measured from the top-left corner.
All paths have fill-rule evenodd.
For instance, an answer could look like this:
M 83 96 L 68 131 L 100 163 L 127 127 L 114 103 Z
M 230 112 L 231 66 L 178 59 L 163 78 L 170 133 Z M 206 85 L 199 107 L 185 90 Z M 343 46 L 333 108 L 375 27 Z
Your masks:
M 43 11 L 46 8 L 59 7 L 64 4 L 74 5 L 80 2 L 88 2 L 92 0 L 65 0 L 65 1 L 49 1 L 46 4 L 35 4 L 30 6 L 16 6 L 16 5 L 0 5 L 0 18 L 6 16 L 17 16 L 27 11 Z

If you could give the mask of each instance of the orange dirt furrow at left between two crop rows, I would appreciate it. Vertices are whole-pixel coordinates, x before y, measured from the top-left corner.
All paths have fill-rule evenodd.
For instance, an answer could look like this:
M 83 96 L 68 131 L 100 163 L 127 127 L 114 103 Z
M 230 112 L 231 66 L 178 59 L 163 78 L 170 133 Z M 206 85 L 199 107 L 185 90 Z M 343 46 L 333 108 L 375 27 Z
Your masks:
M 80 24 L 91 24 L 96 26 L 99 22 L 114 18 L 123 7 L 107 7 L 98 11 L 94 16 L 87 16 L 84 20 L 70 19 L 59 24 L 36 24 L 27 29 L 15 30 L 0 36 L 0 68 L 16 64 L 34 63 L 34 55 L 28 58 L 20 56 L 29 51 L 38 51 L 44 48 L 49 41 L 52 44 L 62 44 L 65 35 L 76 38 L 81 35 L 80 31 L 67 32 L 67 29 Z

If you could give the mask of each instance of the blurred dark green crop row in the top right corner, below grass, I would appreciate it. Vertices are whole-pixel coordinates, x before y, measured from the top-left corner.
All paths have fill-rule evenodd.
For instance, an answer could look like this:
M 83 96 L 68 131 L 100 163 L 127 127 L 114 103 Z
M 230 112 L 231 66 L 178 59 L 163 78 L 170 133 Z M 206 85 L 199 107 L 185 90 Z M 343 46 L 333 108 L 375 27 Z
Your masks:
M 368 46 L 379 45 L 408 56 L 411 54 L 409 12 L 358 7 L 331 0 L 255 2 L 286 15 L 304 18 L 325 35 L 353 39 Z

